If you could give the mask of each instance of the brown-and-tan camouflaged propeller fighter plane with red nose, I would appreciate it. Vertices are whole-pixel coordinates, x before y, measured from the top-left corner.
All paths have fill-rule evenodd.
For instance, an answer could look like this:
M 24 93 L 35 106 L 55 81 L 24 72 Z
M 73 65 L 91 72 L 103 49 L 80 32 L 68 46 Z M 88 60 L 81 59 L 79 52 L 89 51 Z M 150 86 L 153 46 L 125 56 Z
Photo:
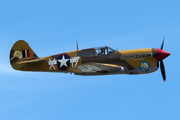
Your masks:
M 159 68 L 166 81 L 163 59 L 170 55 L 161 49 L 117 51 L 108 46 L 78 49 L 39 58 L 27 42 L 17 41 L 10 51 L 11 66 L 20 71 L 74 73 L 75 75 L 145 74 Z

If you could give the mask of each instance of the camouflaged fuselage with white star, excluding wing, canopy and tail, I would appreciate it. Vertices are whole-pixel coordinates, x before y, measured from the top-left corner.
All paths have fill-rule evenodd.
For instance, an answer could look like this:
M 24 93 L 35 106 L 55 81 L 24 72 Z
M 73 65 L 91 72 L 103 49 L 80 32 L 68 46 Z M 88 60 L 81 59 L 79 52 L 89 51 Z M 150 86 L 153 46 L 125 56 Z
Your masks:
M 66 53 L 61 53 L 53 56 L 44 57 L 46 61 L 41 64 L 42 67 L 38 67 L 36 64 L 23 64 L 24 71 L 47 71 L 47 72 L 67 72 L 82 75 L 91 75 L 89 71 L 82 71 L 78 68 L 81 64 L 86 63 L 104 63 L 113 64 L 119 67 L 123 67 L 124 71 L 113 71 L 108 72 L 108 74 L 145 74 L 154 72 L 158 69 L 157 59 L 156 59 L 156 49 L 133 49 L 133 50 L 123 50 L 114 51 L 110 54 L 91 54 L 91 55 L 81 55 L 79 52 L 87 51 L 78 50 Z M 63 58 L 64 57 L 64 58 Z M 76 58 L 76 61 L 73 60 Z M 63 59 L 65 61 L 63 61 Z M 60 61 L 61 60 L 61 61 Z M 72 62 L 71 62 L 72 61 Z M 64 65 L 60 65 L 60 62 Z M 59 63 L 59 64 L 58 64 Z M 96 75 L 101 75 L 104 73 L 92 73 Z

